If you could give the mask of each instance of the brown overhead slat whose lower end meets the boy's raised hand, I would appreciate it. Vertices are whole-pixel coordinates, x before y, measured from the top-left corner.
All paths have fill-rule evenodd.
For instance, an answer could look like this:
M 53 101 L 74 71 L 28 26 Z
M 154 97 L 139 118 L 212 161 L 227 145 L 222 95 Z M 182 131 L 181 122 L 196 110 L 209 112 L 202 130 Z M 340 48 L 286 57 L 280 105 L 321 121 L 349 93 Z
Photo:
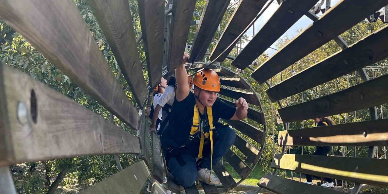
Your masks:
M 174 21 L 171 21 L 168 71 L 173 71 L 182 64 L 195 3 L 196 0 L 173 0 L 172 15 Z

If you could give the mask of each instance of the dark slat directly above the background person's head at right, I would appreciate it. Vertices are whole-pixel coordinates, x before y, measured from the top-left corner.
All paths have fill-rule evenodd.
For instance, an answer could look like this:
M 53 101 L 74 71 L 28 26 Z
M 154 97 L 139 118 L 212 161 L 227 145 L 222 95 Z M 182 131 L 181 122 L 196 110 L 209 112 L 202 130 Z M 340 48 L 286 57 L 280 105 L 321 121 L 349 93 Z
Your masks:
M 278 109 L 283 122 L 301 121 L 360 109 L 388 102 L 388 75 L 365 81 L 334 94 Z

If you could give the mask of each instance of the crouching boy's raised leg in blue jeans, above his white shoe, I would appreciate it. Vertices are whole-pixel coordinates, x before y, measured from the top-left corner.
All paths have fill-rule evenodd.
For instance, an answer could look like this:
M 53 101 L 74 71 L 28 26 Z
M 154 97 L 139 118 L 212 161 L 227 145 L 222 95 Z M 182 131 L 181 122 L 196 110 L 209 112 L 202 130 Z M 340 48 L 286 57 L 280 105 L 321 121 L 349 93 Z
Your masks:
M 213 166 L 226 154 L 236 140 L 236 132 L 229 126 L 219 126 L 213 130 Z M 210 140 L 204 147 L 203 160 L 199 164 L 199 168 L 210 169 Z

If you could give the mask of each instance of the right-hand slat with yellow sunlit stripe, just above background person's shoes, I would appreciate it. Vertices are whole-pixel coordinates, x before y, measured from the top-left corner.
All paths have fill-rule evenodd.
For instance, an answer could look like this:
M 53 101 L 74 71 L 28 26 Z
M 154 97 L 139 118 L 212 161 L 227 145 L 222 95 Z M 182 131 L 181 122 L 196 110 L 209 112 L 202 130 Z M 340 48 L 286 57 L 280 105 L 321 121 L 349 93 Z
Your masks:
M 388 186 L 385 159 L 276 154 L 272 168 L 351 182 Z

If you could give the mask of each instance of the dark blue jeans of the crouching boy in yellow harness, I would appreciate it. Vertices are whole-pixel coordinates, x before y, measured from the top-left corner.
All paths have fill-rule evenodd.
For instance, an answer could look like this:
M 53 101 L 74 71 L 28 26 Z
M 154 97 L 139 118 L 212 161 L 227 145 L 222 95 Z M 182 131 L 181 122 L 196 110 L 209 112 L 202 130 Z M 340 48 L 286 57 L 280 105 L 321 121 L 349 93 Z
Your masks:
M 226 154 L 235 139 L 236 132 L 229 126 L 218 126 L 213 130 L 213 166 Z M 175 181 L 182 187 L 191 187 L 194 184 L 199 169 L 210 169 L 210 140 L 208 139 L 204 145 L 203 159 L 197 162 L 198 151 L 199 144 L 191 145 L 185 153 L 171 156 L 168 159 L 168 168 L 175 177 Z

